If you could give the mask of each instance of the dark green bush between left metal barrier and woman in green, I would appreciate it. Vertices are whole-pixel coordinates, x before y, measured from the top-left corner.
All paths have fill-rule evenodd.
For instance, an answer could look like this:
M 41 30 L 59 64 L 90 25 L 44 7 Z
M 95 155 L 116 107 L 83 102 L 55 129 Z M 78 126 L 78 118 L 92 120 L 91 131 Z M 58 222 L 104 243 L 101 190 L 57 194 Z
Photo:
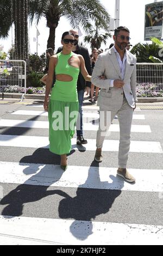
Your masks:
M 42 87 L 43 83 L 40 81 L 44 74 L 36 73 L 31 71 L 27 75 L 27 87 Z

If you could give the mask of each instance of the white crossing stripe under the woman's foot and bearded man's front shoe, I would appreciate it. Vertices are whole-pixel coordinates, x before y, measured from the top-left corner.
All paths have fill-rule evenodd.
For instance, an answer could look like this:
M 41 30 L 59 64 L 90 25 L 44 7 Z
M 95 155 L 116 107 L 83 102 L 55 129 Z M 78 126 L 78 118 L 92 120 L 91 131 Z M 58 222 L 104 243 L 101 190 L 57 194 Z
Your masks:
M 134 186 L 116 176 L 117 168 L 68 166 L 66 172 L 63 172 L 60 166 L 55 164 L 0 162 L 0 169 L 1 185 L 8 183 L 102 190 L 162 191 L 161 169 L 129 169 L 136 178 Z

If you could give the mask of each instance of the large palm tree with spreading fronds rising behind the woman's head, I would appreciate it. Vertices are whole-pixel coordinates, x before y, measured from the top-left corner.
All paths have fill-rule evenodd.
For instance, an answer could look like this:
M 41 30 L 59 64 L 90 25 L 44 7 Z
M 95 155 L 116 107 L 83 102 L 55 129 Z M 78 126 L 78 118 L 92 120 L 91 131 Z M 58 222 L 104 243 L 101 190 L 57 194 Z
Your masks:
M 30 21 L 34 17 L 37 23 L 46 17 L 49 28 L 47 48 L 55 48 L 55 29 L 60 17 L 65 16 L 72 28 L 82 26 L 84 31 L 91 32 L 91 21 L 99 20 L 104 28 L 108 26 L 109 14 L 99 0 L 29 0 Z

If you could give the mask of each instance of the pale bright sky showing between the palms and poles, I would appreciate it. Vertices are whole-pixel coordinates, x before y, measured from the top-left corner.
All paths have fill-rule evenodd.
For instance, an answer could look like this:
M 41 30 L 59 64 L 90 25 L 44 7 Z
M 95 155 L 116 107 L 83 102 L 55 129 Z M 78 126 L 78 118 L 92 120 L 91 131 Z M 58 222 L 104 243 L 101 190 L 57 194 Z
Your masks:
M 145 23 L 145 5 L 152 3 L 151 0 L 120 0 L 120 26 L 126 26 L 130 30 L 131 44 L 136 44 L 137 42 L 144 42 L 144 23 Z M 112 18 L 115 17 L 115 0 L 101 0 L 101 3 L 108 10 Z M 45 52 L 47 39 L 49 35 L 49 29 L 46 27 L 46 20 L 41 19 L 39 25 L 39 47 L 38 53 L 41 54 Z M 61 35 L 65 31 L 71 29 L 71 26 L 68 24 L 68 21 L 62 17 L 59 21 L 59 25 L 56 29 L 56 38 L 55 38 L 55 49 L 60 46 Z M 82 30 L 82 29 L 81 29 Z M 83 31 L 82 31 L 83 32 Z M 14 29 L 12 29 L 12 34 L 14 34 Z M 36 42 L 33 41 L 33 38 L 36 36 L 35 23 L 29 29 L 29 38 L 30 38 L 30 52 L 36 52 Z M 6 40 L 0 39 L 0 45 L 3 45 L 3 50 L 8 52 L 11 47 L 11 31 L 10 36 Z M 14 40 L 14 38 L 12 38 Z M 82 41 L 83 36 L 80 38 Z M 112 42 L 112 39 L 109 39 L 107 45 L 102 45 L 102 48 L 108 47 Z M 87 47 L 90 49 L 89 45 Z

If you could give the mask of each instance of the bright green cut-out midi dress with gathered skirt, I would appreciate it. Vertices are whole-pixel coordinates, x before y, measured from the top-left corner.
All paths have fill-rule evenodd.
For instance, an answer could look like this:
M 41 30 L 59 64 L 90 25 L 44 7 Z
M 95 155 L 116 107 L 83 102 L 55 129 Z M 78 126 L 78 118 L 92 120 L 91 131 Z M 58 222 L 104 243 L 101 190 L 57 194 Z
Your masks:
M 73 52 L 57 54 L 58 63 L 55 66 L 55 75 L 69 75 L 72 81 L 55 81 L 48 107 L 49 150 L 58 155 L 70 153 L 71 138 L 74 135 L 78 118 L 77 80 L 80 70 L 68 64 L 73 54 Z

